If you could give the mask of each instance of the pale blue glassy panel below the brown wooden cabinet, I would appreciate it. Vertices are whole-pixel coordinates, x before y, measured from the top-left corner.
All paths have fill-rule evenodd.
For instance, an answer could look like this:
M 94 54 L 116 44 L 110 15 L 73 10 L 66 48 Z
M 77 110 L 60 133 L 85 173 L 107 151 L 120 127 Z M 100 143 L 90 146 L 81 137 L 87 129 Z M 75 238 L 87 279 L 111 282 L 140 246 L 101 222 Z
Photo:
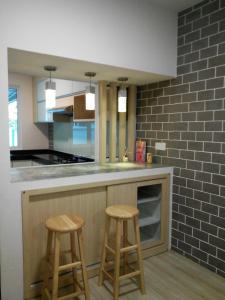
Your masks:
M 73 144 L 95 143 L 95 122 L 75 122 L 73 125 Z

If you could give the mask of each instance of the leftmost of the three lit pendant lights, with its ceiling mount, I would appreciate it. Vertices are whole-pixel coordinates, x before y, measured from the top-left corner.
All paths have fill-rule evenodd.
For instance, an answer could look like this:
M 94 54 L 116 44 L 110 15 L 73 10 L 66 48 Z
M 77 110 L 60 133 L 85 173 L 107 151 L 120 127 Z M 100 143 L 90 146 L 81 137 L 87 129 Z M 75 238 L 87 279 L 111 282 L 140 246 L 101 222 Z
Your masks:
M 55 107 L 56 84 L 52 81 L 52 72 L 57 70 L 54 66 L 45 66 L 45 71 L 50 72 L 49 80 L 45 83 L 45 105 L 47 109 Z

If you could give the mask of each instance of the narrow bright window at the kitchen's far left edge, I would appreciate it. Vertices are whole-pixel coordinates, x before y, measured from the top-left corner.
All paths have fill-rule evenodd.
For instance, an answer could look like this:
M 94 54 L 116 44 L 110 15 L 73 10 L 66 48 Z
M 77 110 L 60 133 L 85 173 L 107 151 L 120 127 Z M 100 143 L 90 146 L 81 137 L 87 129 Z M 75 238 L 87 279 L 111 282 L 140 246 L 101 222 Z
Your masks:
M 9 145 L 18 147 L 19 145 L 19 126 L 18 126 L 18 89 L 9 88 L 8 90 L 8 114 L 9 114 Z

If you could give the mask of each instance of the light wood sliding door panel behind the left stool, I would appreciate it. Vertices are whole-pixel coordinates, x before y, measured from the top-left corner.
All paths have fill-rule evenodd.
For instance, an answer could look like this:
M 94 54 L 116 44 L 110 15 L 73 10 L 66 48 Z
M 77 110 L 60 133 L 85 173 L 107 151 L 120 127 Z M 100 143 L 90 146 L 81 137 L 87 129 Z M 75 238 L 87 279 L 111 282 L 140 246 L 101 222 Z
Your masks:
M 29 299 L 31 285 L 41 280 L 42 259 L 45 255 L 47 230 L 45 221 L 59 214 L 81 215 L 84 227 L 86 262 L 88 265 L 100 260 L 106 188 L 65 191 L 61 193 L 32 196 L 23 194 L 23 245 L 25 298 Z M 62 249 L 69 248 L 68 237 L 62 238 Z M 91 247 L 88 247 L 91 245 Z M 65 260 L 66 258 L 64 258 Z

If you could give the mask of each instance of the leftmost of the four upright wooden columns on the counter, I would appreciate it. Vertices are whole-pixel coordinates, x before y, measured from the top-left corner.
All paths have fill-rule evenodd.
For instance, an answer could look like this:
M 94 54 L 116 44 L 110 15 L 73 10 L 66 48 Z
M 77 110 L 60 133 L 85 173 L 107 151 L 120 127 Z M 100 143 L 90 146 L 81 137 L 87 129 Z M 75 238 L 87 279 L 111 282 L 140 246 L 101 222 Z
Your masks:
M 106 161 L 107 126 L 107 90 L 106 81 L 99 82 L 99 162 Z

